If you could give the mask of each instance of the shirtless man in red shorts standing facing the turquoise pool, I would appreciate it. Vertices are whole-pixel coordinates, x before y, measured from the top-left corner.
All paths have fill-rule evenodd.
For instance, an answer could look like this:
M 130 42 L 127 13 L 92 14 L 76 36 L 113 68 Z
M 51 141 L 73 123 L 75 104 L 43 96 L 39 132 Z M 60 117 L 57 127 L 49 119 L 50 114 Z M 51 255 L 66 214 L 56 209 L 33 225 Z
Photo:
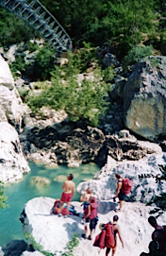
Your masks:
M 64 203 L 67 204 L 65 216 L 67 217 L 67 215 L 69 214 L 70 202 L 72 201 L 72 197 L 75 194 L 75 183 L 74 183 L 74 181 L 72 181 L 72 179 L 74 179 L 73 174 L 69 174 L 67 176 L 67 180 L 63 182 L 63 185 L 61 187 L 63 189 L 63 193 L 62 193 L 61 199 L 60 199 L 60 207 L 59 207 L 58 216 L 61 216 L 61 211 L 63 209 Z

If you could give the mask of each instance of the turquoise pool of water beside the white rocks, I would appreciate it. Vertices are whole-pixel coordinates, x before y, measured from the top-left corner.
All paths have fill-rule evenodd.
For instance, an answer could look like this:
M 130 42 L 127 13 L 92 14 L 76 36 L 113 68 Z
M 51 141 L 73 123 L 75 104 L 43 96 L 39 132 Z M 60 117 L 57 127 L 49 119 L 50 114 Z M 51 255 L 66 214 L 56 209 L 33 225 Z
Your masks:
M 60 198 L 61 185 L 68 174 L 74 174 L 74 181 L 77 186 L 82 181 L 92 179 L 94 174 L 99 171 L 99 168 L 93 163 L 84 164 L 77 168 L 69 168 L 67 166 L 47 168 L 45 165 L 39 165 L 34 162 L 29 162 L 29 166 L 31 172 L 26 174 L 23 180 L 8 184 L 5 187 L 9 208 L 0 210 L 1 247 L 5 247 L 13 239 L 25 240 L 19 218 L 28 200 L 38 196 Z M 37 186 L 32 182 L 32 178 L 35 176 L 50 179 L 51 183 L 47 186 Z M 78 193 L 75 192 L 73 200 L 79 200 Z

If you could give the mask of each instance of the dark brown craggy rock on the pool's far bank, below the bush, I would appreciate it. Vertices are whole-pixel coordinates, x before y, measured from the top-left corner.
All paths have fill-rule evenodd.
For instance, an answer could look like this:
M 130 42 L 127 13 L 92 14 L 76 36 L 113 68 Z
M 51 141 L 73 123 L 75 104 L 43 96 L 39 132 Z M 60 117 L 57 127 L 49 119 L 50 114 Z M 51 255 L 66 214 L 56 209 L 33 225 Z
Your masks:
M 23 140 L 22 136 L 22 143 L 28 159 L 69 166 L 93 162 L 105 141 L 102 130 L 98 128 L 73 128 L 61 124 L 32 128 L 25 138 Z

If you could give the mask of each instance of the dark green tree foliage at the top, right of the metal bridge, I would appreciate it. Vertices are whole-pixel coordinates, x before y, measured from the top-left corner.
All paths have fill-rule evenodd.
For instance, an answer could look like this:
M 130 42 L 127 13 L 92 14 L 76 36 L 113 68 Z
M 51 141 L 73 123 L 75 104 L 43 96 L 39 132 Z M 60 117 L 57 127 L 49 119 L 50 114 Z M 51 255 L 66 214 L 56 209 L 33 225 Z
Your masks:
M 125 56 L 132 45 L 141 42 L 142 33 L 156 29 L 155 0 L 42 0 L 58 18 L 75 45 L 111 43 Z M 79 22 L 78 22 L 79 21 Z

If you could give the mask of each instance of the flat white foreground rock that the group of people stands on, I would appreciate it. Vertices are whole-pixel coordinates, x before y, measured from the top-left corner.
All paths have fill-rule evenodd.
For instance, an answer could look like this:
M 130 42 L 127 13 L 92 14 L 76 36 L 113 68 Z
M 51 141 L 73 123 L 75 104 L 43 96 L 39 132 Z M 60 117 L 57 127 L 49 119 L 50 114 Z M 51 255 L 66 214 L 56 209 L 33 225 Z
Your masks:
M 63 216 L 58 217 L 58 215 L 50 214 L 54 202 L 55 199 L 49 197 L 33 198 L 25 204 L 25 213 L 22 214 L 24 232 L 30 233 L 36 242 L 42 245 L 44 250 L 52 253 L 64 251 L 67 242 L 77 233 L 79 245 L 75 248 L 74 255 L 96 256 L 99 248 L 93 247 L 92 244 L 95 236 L 100 232 L 99 224 L 107 223 L 112 220 L 113 215 L 118 214 L 125 248 L 122 249 L 121 242 L 118 239 L 116 255 L 140 256 L 142 251 L 148 252 L 153 228 L 149 225 L 147 219 L 152 207 L 147 207 L 141 203 L 125 202 L 122 212 L 115 213 L 113 209 L 116 203 L 101 201 L 98 208 L 98 225 L 90 241 L 81 238 L 84 229 L 81 224 L 81 217 L 70 215 L 68 218 L 64 218 Z M 83 212 L 80 202 L 72 202 L 72 204 L 75 206 L 76 212 Z M 165 213 L 158 217 L 158 224 L 163 225 L 164 223 L 166 223 Z M 30 244 L 30 241 L 28 243 Z M 104 256 L 105 254 L 106 250 L 102 249 L 100 255 Z

